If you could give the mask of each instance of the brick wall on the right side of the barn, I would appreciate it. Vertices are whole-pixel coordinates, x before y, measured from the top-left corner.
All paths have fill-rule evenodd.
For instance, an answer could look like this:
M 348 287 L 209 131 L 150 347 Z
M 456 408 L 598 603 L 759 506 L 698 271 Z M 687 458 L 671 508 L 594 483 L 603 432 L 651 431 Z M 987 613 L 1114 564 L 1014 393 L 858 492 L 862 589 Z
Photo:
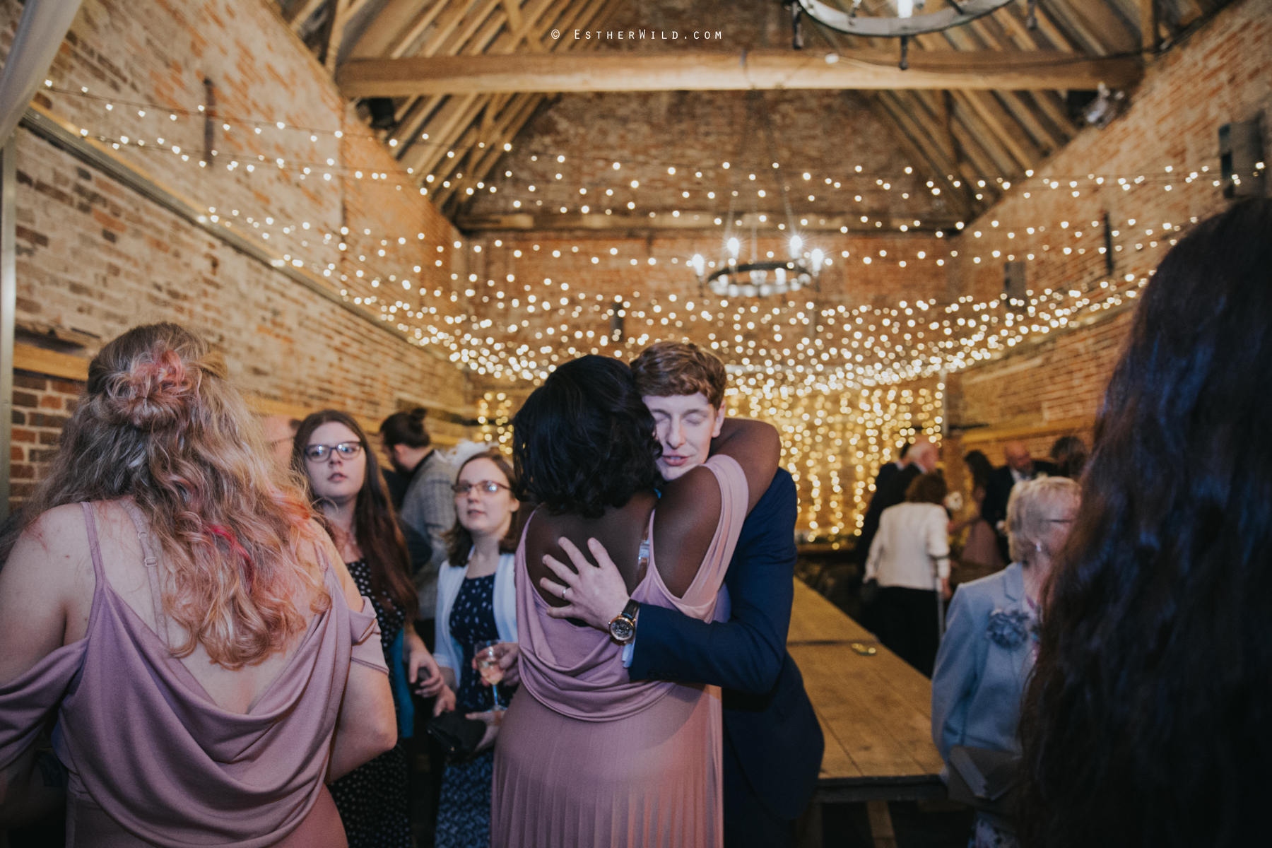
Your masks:
M 1227 209 L 1231 201 L 1215 186 L 1220 125 L 1261 120 L 1263 137 L 1272 137 L 1272 4 L 1245 0 L 1221 11 L 1152 61 L 1128 97 L 1130 107 L 1107 128 L 1084 130 L 954 239 L 960 256 L 951 275 L 965 294 L 977 300 L 999 295 L 1007 254 L 1033 254 L 1034 296 L 1074 290 L 1098 299 L 1113 285 L 1130 294 L 1192 224 Z M 1131 187 L 1122 188 L 1121 179 Z M 1112 273 L 1100 250 L 1105 215 L 1114 233 Z M 946 462 L 964 448 L 979 448 L 1001 463 L 1011 437 L 1023 439 L 1035 456 L 1044 456 L 1060 435 L 1090 444 L 1090 422 L 1132 306 L 1127 297 L 1113 305 L 1118 314 L 1051 333 L 953 376 L 953 421 L 991 427 L 967 431 L 962 445 L 950 445 Z

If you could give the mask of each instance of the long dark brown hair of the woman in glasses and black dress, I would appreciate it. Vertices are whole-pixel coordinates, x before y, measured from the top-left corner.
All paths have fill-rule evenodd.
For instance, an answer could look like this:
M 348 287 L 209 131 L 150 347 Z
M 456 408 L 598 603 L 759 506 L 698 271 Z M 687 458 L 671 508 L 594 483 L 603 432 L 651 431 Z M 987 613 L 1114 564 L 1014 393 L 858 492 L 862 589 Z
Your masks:
M 384 479 L 380 477 L 380 465 L 375 460 L 375 451 L 368 444 L 366 434 L 363 432 L 357 421 L 338 409 L 323 409 L 301 421 L 296 430 L 296 437 L 291 442 L 291 467 L 309 486 L 309 500 L 317 506 L 304 450 L 314 430 L 331 421 L 340 422 L 352 430 L 363 445 L 363 454 L 366 456 L 363 488 L 359 489 L 357 502 L 354 505 L 354 539 L 363 549 L 363 557 L 366 558 L 366 564 L 370 567 L 371 595 L 388 600 L 391 606 L 404 610 L 407 615 L 413 617 L 420 599 L 415 584 L 411 582 L 411 558 L 406 551 L 406 539 L 402 537 L 397 516 L 393 514 L 393 505 L 389 502 Z M 318 515 L 322 516 L 321 510 L 318 510 Z M 331 533 L 333 529 L 331 524 L 326 520 L 323 524 Z

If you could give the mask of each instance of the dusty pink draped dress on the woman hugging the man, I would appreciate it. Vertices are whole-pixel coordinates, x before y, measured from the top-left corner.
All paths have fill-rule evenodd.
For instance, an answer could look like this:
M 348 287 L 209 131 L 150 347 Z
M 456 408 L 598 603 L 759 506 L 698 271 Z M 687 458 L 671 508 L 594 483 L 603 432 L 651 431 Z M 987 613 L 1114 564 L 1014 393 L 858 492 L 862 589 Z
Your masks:
M 706 467 L 722 501 L 697 577 L 675 598 L 651 554 L 632 598 L 724 620 L 728 596 L 717 599 L 747 517 L 747 478 L 728 456 L 712 456 Z M 522 689 L 495 748 L 491 845 L 720 845 L 720 690 L 631 683 L 622 646 L 608 633 L 550 618 L 525 568 L 524 533 L 516 549 L 516 624 Z

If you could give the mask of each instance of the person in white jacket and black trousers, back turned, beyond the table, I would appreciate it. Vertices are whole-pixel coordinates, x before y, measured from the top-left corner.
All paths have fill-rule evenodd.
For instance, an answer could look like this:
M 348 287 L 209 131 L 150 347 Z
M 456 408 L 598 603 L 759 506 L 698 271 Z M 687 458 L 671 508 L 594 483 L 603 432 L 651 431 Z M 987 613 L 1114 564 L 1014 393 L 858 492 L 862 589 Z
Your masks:
M 879 641 L 929 678 L 940 641 L 937 605 L 949 598 L 946 491 L 940 472 L 916 478 L 906 502 L 883 511 L 865 572 L 879 584 Z

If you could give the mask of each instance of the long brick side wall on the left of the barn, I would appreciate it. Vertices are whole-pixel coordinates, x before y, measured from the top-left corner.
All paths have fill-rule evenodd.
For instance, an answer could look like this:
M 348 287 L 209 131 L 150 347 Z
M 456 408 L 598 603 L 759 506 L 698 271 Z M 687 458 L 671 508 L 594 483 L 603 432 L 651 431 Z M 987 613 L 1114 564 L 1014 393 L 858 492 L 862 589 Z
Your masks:
M 18 4 L 0 8 L 4 50 L 19 14 Z M 346 113 L 272 4 L 86 0 L 48 79 L 52 88 L 37 98 L 43 108 L 104 139 L 112 155 L 223 226 L 299 263 L 352 309 L 19 130 L 19 341 L 42 343 L 39 333 L 53 329 L 90 356 L 128 327 L 174 320 L 224 350 L 234 381 L 273 408 L 338 407 L 369 420 L 421 400 L 471 408 L 449 348 L 382 327 L 429 339 L 427 325 L 458 314 L 452 266 L 460 236 L 398 178 L 389 153 Z M 198 112 L 205 79 L 215 90 L 210 150 Z M 31 412 L 22 409 L 25 397 L 15 398 L 27 417 L 52 421 L 41 404 L 74 394 L 71 384 L 22 379 L 46 392 Z M 452 439 L 468 432 L 454 421 L 432 426 Z M 20 479 L 39 469 L 46 448 L 32 445 L 47 444 L 57 427 L 15 427 Z

